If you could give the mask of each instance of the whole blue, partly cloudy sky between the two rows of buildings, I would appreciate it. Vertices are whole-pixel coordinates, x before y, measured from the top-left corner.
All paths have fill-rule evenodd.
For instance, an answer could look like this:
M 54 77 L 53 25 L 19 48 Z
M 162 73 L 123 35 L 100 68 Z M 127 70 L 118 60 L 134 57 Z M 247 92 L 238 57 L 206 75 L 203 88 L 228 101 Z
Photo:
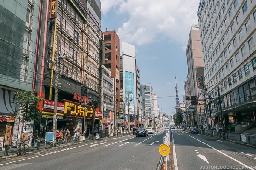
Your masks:
M 175 113 L 186 81 L 186 46 L 200 0 L 101 0 L 101 29 L 135 46 L 140 83 L 151 83 L 161 113 Z M 121 50 L 122 51 L 122 46 Z

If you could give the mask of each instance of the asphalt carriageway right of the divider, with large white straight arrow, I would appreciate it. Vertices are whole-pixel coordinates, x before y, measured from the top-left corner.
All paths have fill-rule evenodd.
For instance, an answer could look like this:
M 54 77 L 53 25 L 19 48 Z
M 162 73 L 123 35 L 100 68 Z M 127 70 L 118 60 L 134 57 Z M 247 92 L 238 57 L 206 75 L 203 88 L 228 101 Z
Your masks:
M 175 170 L 256 170 L 256 149 L 172 130 Z

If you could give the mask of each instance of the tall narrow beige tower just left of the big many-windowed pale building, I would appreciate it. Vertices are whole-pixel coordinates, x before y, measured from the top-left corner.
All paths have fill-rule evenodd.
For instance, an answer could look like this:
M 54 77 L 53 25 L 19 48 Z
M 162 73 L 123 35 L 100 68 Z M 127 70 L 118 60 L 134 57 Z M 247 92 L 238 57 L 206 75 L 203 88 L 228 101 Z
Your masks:
M 188 65 L 188 76 L 187 76 L 187 85 L 188 85 L 188 103 L 186 105 L 186 117 L 189 118 L 189 125 L 196 126 L 201 125 L 200 113 L 201 106 L 204 101 L 198 100 L 198 102 L 192 102 L 192 98 L 198 98 L 201 93 L 201 86 L 198 86 L 197 78 L 202 77 L 204 79 L 204 68 L 203 68 L 203 59 L 201 51 L 201 40 L 199 33 L 199 26 L 194 24 L 191 26 L 189 33 L 189 40 L 186 49 L 187 65 Z M 202 107 L 203 108 L 203 107 Z M 192 122 L 192 123 L 191 123 Z M 205 123 L 205 122 L 204 122 Z

